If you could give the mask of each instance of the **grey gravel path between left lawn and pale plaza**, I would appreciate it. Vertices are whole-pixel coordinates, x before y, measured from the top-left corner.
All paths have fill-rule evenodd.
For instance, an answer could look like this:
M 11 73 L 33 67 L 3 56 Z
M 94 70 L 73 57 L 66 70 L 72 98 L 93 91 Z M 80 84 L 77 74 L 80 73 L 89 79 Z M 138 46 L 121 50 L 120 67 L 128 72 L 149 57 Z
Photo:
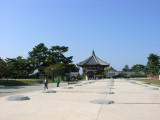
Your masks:
M 66 86 L 68 83 L 60 83 L 60 87 Z M 48 84 L 48 88 L 56 88 L 56 83 Z M 28 93 L 32 91 L 44 90 L 44 84 L 38 85 L 26 85 L 26 86 L 10 86 L 10 87 L 2 87 L 0 86 L 0 97 L 8 96 L 8 95 L 15 95 L 20 93 Z

